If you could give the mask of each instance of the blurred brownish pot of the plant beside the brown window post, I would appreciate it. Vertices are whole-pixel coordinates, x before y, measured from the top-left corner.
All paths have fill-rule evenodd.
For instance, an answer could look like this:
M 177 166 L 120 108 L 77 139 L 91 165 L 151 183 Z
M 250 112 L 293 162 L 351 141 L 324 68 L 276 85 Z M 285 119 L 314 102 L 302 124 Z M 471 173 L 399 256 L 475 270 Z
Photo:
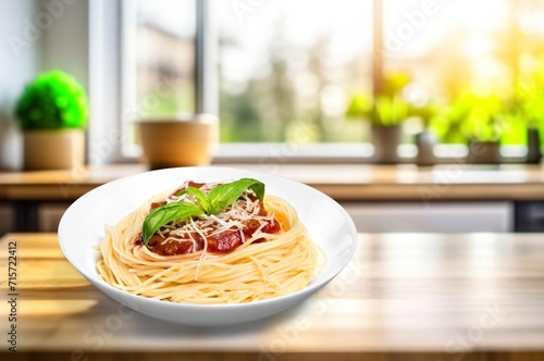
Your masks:
M 400 126 L 372 125 L 373 160 L 376 163 L 393 164 L 398 162 L 397 147 L 400 144 Z

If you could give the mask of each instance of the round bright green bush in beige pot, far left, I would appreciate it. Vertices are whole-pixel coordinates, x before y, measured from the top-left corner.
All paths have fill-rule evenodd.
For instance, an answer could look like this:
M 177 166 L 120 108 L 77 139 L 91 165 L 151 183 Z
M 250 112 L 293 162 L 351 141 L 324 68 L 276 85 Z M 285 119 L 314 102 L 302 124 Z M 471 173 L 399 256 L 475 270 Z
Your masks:
M 85 163 L 88 104 L 82 86 L 52 71 L 28 84 L 16 103 L 25 170 L 66 170 Z

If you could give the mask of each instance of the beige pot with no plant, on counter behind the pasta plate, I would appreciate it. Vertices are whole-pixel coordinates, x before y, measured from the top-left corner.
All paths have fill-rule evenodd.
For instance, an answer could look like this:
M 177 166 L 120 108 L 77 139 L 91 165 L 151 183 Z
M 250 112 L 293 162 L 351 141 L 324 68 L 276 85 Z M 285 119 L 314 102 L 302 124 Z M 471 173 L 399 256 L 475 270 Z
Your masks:
M 137 128 L 151 169 L 210 164 L 219 139 L 219 121 L 211 114 L 140 121 Z

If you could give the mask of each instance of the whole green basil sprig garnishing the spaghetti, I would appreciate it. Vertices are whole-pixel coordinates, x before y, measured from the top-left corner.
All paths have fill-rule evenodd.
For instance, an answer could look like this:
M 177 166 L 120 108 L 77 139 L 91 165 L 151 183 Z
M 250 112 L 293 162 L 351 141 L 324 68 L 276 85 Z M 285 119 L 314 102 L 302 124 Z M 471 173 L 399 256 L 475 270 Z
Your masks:
M 149 239 L 163 225 L 202 214 L 218 214 L 234 203 L 247 189 L 252 190 L 260 201 L 264 199 L 264 184 L 254 178 L 242 178 L 213 187 L 208 194 L 198 188 L 187 187 L 177 196 L 189 194 L 197 204 L 178 201 L 153 209 L 144 220 L 141 237 L 149 248 Z

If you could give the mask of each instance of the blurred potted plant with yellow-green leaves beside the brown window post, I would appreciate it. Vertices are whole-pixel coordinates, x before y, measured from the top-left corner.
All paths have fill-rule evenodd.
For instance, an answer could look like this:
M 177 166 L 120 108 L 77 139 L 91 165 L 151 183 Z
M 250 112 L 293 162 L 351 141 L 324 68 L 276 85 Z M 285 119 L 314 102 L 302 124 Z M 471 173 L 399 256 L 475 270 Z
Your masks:
M 374 161 L 397 163 L 397 147 L 401 140 L 400 125 L 409 115 L 409 104 L 403 97 L 403 89 L 410 83 L 404 73 L 384 78 L 381 91 L 373 97 L 356 94 L 353 96 L 346 116 L 368 119 L 372 124 Z

